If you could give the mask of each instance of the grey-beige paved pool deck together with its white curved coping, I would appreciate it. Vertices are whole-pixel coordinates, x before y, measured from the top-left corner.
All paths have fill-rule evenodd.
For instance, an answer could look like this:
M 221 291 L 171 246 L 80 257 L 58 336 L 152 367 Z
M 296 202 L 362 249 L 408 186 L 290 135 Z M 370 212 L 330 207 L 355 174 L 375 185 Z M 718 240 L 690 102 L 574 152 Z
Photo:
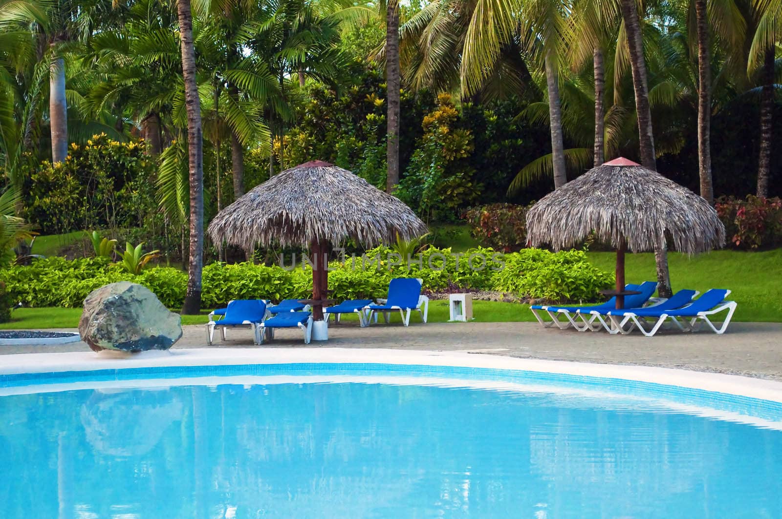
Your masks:
M 0 375 L 264 363 L 425 364 L 617 378 L 782 403 L 782 324 L 735 323 L 725 335 L 672 333 L 655 338 L 543 329 L 533 323 L 363 329 L 342 324 L 332 326 L 329 335 L 328 342 L 305 346 L 300 331 L 283 331 L 268 345 L 255 346 L 249 331 L 236 330 L 229 332 L 228 341 L 208 348 L 204 327 L 188 326 L 168 352 L 93 353 L 83 342 L 5 346 Z

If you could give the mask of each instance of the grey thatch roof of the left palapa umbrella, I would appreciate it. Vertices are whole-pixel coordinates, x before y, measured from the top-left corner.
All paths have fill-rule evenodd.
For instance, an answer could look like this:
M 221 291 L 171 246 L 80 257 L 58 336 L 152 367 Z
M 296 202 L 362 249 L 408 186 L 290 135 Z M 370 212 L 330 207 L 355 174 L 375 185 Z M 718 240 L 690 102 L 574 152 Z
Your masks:
M 413 211 L 341 167 L 315 160 L 285 170 L 223 209 L 207 232 L 216 243 L 310 246 L 350 237 L 366 246 L 427 232 Z

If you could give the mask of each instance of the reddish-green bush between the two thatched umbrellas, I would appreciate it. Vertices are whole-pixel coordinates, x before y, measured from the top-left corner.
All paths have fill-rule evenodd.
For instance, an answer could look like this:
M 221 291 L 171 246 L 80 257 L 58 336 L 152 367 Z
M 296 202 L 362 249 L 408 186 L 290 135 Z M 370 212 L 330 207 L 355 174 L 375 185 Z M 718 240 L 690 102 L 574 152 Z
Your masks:
M 465 213 L 470 235 L 484 247 L 503 252 L 523 249 L 527 241 L 529 206 L 497 203 L 473 207 Z

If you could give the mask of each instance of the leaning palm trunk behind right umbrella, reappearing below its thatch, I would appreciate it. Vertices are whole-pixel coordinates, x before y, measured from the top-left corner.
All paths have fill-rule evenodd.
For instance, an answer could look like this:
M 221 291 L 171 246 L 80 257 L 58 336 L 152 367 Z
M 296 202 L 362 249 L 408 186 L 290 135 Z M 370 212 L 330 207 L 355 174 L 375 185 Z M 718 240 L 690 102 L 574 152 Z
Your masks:
M 655 135 L 651 129 L 651 108 L 649 107 L 646 62 L 644 62 L 644 44 L 635 0 L 622 0 L 622 18 L 625 22 L 627 43 L 630 47 L 630 68 L 633 72 L 633 90 L 636 100 L 640 162 L 644 167 L 656 171 Z M 657 267 L 657 292 L 661 297 L 670 297 L 672 294 L 671 277 L 668 271 L 668 248 L 665 243 L 661 243 L 655 250 L 655 264 Z

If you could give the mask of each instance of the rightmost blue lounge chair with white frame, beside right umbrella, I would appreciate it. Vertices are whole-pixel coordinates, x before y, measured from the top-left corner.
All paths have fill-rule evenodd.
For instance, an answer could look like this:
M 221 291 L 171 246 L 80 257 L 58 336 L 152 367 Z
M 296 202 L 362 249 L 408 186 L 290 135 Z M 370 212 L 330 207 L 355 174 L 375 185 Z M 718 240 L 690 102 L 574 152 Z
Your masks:
M 646 330 L 640 325 L 640 320 L 633 320 L 638 329 L 646 335 L 651 337 L 655 335 L 657 331 L 662 327 L 662 324 L 666 320 L 671 320 L 673 324 L 681 331 L 697 331 L 701 324 L 705 323 L 708 328 L 711 328 L 717 334 L 725 333 L 730 324 L 730 319 L 733 317 L 736 311 L 735 301 L 726 301 L 725 298 L 730 294 L 730 290 L 712 288 L 705 292 L 701 297 L 695 299 L 690 305 L 683 306 L 682 308 L 674 310 L 656 309 L 655 308 L 639 308 L 637 310 L 614 310 L 610 312 L 615 317 L 644 317 L 645 319 L 657 319 L 655 324 Z M 713 316 L 716 313 L 721 313 L 727 310 L 728 313 L 723 320 L 722 326 L 716 328 L 714 323 L 709 320 L 709 316 Z M 700 322 L 698 322 L 700 321 Z

